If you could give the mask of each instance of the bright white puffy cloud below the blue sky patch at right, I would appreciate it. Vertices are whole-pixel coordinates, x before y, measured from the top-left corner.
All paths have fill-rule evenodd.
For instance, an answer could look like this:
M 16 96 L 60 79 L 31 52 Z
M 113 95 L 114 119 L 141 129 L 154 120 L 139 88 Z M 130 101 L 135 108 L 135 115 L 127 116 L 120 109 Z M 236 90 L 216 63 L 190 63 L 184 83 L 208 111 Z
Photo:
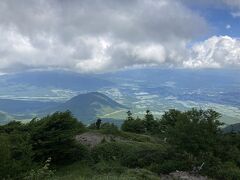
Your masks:
M 240 40 L 229 36 L 213 36 L 195 44 L 183 62 L 187 68 L 240 67 Z

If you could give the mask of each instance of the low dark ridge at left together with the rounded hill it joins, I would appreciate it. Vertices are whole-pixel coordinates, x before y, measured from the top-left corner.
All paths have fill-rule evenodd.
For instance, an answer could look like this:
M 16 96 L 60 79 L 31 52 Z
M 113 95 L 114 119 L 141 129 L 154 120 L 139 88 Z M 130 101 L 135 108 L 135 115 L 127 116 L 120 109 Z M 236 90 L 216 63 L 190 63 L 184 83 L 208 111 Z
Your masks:
M 95 121 L 97 117 L 126 108 L 99 92 L 79 94 L 63 103 L 0 99 L 0 123 L 21 118 L 31 119 L 33 116 L 42 117 L 56 111 L 67 110 L 70 110 L 78 120 L 89 123 Z

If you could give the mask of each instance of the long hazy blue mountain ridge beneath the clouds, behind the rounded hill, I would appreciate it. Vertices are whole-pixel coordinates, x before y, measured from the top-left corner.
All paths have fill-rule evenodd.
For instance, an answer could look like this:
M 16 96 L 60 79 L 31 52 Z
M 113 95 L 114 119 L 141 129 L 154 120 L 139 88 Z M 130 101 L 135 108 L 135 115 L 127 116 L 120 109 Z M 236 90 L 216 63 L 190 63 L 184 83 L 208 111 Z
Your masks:
M 33 71 L 6 74 L 1 77 L 9 84 L 25 84 L 36 87 L 55 87 L 71 90 L 96 91 L 101 87 L 113 85 L 99 76 L 69 71 Z

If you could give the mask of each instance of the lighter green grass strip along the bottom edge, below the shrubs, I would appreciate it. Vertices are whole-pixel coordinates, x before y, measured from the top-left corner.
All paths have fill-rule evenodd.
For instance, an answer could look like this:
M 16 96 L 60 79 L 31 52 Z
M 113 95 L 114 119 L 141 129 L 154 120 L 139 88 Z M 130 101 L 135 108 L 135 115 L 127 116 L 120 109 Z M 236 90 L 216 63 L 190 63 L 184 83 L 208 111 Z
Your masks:
M 99 167 L 98 167 L 99 166 Z M 145 169 L 127 169 L 117 163 L 101 162 L 96 164 L 94 171 L 90 166 L 77 162 L 70 166 L 61 168 L 57 171 L 52 180 L 157 180 L 159 176 Z M 100 172 L 111 170 L 110 172 Z M 122 173 L 117 170 L 123 171 Z M 114 172 L 115 170 L 115 172 Z

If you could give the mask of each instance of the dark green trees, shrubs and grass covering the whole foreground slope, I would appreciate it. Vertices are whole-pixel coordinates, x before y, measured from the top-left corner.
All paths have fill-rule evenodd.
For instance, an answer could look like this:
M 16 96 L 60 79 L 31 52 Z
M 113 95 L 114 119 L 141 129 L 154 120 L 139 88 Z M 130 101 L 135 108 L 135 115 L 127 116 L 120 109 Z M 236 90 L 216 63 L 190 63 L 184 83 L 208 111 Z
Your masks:
M 213 110 L 169 110 L 161 119 L 129 111 L 121 129 L 84 126 L 71 112 L 27 124 L 0 126 L 1 179 L 159 179 L 176 170 L 213 179 L 240 179 L 240 135 L 223 133 Z M 75 136 L 91 132 L 110 140 L 89 147 Z

